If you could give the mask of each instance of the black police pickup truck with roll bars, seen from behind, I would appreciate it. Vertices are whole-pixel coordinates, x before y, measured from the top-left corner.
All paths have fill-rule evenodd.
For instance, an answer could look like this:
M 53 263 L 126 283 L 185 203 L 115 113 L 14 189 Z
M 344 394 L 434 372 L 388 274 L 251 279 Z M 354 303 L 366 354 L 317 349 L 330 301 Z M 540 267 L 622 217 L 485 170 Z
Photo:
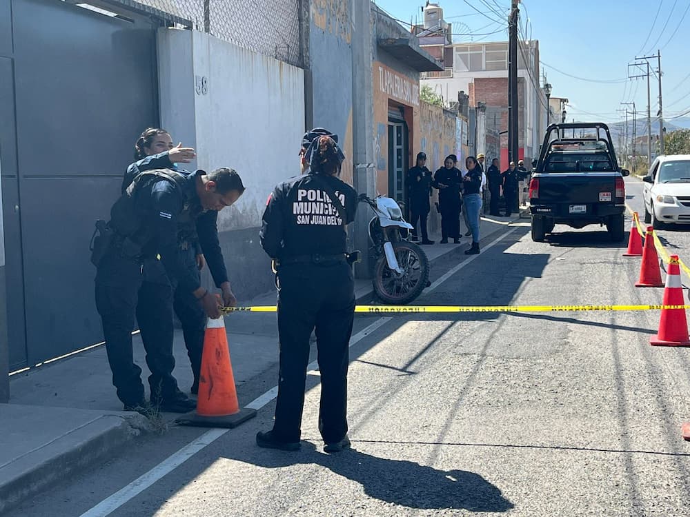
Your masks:
M 551 124 L 529 183 L 532 239 L 556 224 L 606 225 L 612 241 L 625 236 L 625 185 L 606 124 Z

